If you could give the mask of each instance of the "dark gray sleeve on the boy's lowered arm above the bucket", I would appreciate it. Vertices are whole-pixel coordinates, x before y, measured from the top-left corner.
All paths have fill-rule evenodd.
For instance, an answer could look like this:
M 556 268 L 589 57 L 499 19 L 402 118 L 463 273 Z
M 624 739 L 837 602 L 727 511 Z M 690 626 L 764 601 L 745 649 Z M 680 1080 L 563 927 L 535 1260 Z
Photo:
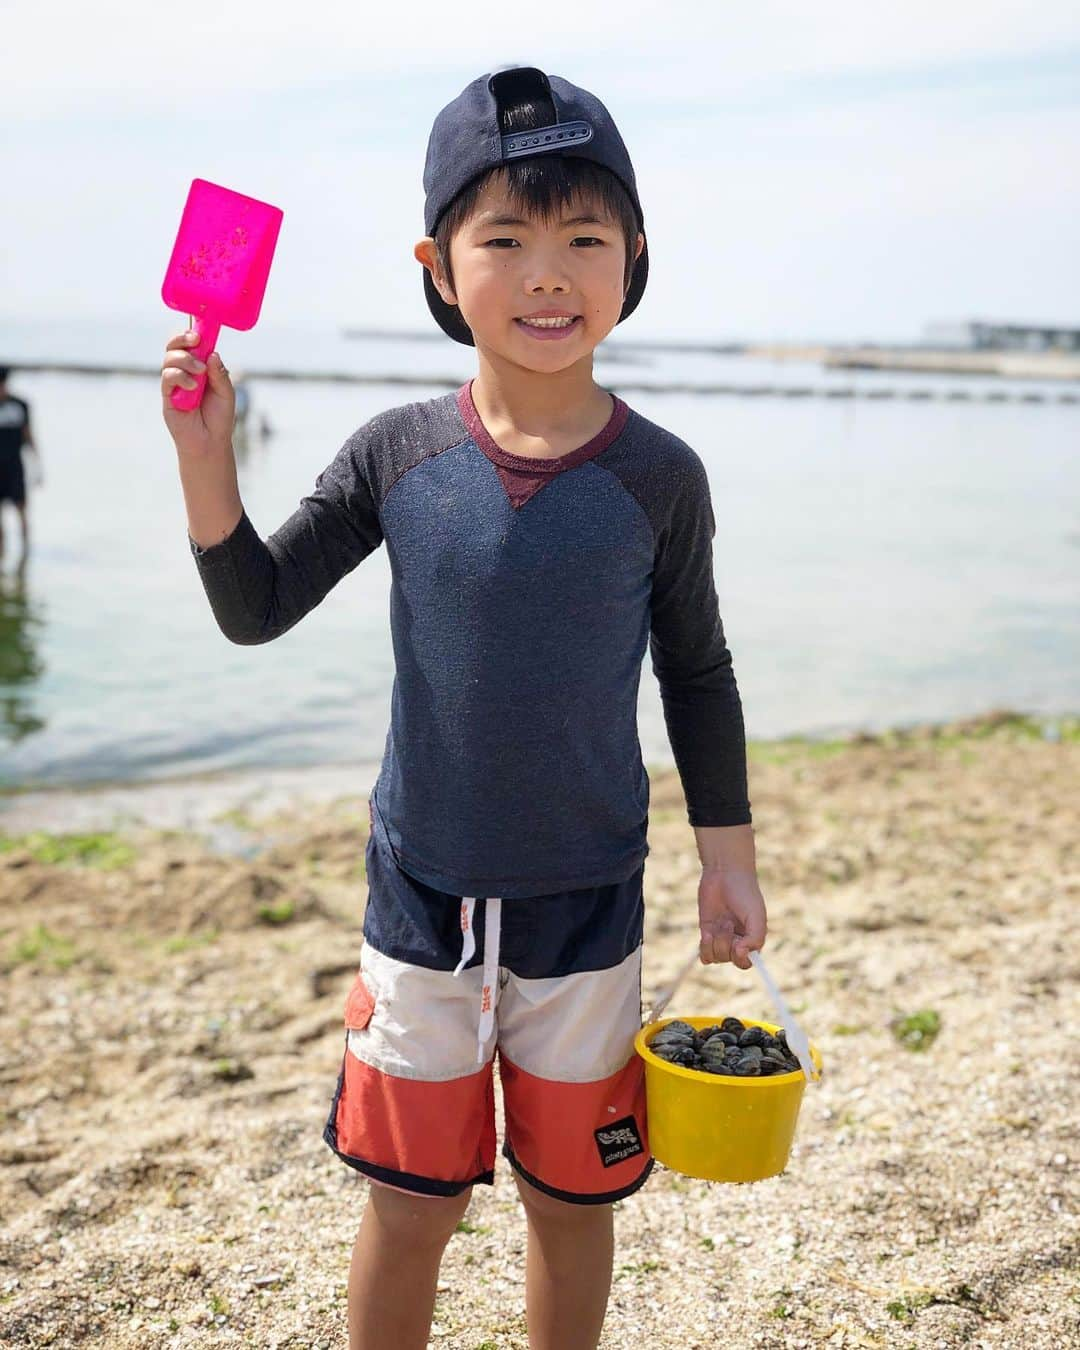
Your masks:
M 716 520 L 705 466 L 678 468 L 652 582 L 649 652 L 691 825 L 748 825 L 747 742 L 713 580 Z

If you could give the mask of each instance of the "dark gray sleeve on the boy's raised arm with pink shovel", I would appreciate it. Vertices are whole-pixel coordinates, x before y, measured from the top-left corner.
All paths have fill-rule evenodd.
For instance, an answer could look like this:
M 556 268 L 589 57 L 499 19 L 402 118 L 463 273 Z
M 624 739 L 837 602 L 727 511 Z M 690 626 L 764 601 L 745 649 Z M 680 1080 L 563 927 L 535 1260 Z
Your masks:
M 367 423 L 319 474 L 315 490 L 263 543 L 247 512 L 228 539 L 188 536 L 217 626 L 244 647 L 281 637 L 382 543 L 371 490 L 377 423 Z

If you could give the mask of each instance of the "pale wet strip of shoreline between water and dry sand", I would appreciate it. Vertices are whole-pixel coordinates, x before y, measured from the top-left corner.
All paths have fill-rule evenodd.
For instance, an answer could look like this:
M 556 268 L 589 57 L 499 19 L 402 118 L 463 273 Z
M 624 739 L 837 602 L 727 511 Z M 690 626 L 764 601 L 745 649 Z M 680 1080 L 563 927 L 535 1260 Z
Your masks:
M 999 707 L 971 717 L 898 724 L 882 732 L 840 734 L 792 733 L 747 741 L 749 764 L 783 761 L 791 752 L 830 755 L 857 745 L 898 747 L 945 742 L 1010 728 L 1033 740 L 1080 738 L 1080 713 L 1025 713 Z M 647 760 L 649 778 L 663 778 L 674 761 Z M 62 821 L 65 833 L 115 830 L 124 826 L 182 829 L 221 836 L 238 819 L 252 821 L 289 810 L 363 801 L 379 772 L 378 760 L 354 764 L 313 764 L 213 770 L 162 779 L 105 780 L 57 787 L 0 787 L 0 838 L 49 832 Z

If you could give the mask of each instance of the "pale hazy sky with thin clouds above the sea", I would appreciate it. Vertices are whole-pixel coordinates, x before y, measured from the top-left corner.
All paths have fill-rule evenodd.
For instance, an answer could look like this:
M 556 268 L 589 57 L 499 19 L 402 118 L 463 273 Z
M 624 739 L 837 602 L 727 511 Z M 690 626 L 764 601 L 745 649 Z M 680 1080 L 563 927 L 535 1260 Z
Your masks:
M 630 153 L 625 339 L 1080 324 L 1080 7 L 4 0 L 0 320 L 162 317 L 194 177 L 285 212 L 263 320 L 437 332 L 413 246 L 435 115 L 536 65 Z M 450 339 L 446 339 L 450 342 Z

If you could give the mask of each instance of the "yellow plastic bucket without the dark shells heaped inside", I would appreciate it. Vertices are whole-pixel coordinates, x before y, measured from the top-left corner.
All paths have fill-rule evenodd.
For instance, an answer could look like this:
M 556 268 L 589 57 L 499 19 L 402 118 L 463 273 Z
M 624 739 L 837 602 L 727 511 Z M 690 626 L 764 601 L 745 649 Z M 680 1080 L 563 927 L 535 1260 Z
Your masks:
M 761 1181 L 783 1172 L 806 1087 L 802 1069 L 767 1079 L 736 1079 L 668 1064 L 652 1053 L 648 1042 L 674 1021 L 649 1022 L 633 1042 L 645 1061 L 649 1152 L 664 1166 L 703 1181 Z M 699 1031 L 722 1018 L 678 1021 Z M 740 1021 L 774 1034 L 779 1030 L 775 1022 Z M 810 1054 L 821 1073 L 821 1054 L 813 1042 Z

